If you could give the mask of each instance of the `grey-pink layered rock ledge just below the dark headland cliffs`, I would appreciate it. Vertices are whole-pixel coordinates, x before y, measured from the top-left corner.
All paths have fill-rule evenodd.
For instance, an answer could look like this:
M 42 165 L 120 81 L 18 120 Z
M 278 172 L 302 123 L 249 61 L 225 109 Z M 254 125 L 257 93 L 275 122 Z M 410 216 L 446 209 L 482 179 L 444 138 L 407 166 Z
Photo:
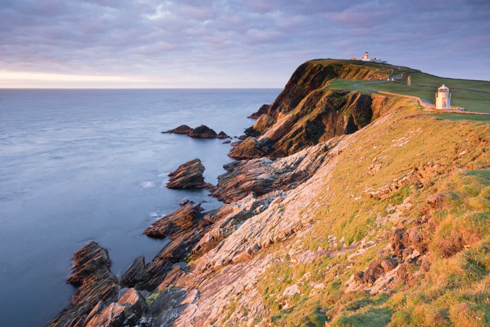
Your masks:
M 258 158 L 226 164 L 223 167 L 227 173 L 218 176 L 218 184 L 211 187 L 211 195 L 231 203 L 250 193 L 261 196 L 274 190 L 295 188 L 321 166 L 328 149 L 336 142 L 337 139 L 332 139 L 276 161 Z

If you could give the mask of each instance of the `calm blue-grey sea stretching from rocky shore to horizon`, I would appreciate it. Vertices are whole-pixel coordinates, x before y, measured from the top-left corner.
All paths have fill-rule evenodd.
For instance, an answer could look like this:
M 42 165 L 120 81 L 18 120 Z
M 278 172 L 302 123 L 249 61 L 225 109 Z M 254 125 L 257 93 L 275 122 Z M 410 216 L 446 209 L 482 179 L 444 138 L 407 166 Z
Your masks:
M 120 277 L 165 245 L 143 231 L 183 198 L 167 173 L 200 158 L 216 183 L 230 146 L 160 131 L 205 124 L 241 135 L 279 89 L 0 89 L 0 326 L 43 325 L 69 303 L 71 257 L 108 249 Z

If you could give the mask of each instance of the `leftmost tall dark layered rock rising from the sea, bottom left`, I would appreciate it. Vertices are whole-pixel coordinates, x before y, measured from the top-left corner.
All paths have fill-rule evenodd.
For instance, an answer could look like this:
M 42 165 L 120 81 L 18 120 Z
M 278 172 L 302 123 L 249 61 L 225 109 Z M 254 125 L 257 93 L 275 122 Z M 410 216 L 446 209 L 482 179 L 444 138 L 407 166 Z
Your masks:
M 79 286 L 71 303 L 47 326 L 81 326 L 87 314 L 103 301 L 115 301 L 119 286 L 109 271 L 110 260 L 106 249 L 97 243 L 87 243 L 73 255 L 74 265 L 67 283 Z

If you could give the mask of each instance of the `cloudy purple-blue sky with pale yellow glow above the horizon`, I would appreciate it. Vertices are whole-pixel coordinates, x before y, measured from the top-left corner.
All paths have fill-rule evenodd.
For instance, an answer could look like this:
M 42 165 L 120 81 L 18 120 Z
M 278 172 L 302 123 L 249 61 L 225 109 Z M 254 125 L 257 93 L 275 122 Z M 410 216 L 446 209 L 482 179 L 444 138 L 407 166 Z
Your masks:
M 490 1 L 0 0 L 0 88 L 283 87 L 364 51 L 490 80 Z

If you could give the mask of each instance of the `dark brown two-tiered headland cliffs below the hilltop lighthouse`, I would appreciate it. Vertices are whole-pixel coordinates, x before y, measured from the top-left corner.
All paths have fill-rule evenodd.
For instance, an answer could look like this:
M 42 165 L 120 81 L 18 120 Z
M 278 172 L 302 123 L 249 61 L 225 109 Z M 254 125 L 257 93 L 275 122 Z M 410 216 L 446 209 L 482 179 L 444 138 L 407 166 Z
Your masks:
M 305 62 L 296 69 L 276 100 L 253 115 L 258 120 L 245 133 L 257 139 L 248 139 L 231 149 L 229 156 L 274 159 L 359 130 L 380 117 L 378 104 L 382 104 L 383 99 L 373 104 L 373 97 L 378 95 L 332 91 L 324 87 L 334 78 L 370 80 L 380 77 L 386 76 L 369 67 Z

